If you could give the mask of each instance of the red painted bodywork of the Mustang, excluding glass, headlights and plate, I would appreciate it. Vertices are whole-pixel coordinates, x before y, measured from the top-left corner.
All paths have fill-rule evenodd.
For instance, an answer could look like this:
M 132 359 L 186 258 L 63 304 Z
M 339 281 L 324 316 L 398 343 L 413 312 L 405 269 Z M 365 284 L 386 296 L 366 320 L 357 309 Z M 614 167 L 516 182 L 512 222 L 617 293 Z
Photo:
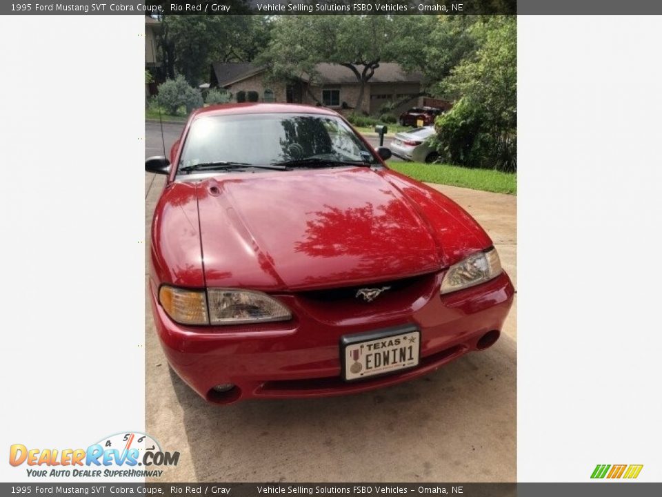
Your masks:
M 205 108 L 190 117 L 172 164 L 191 122 L 222 113 L 337 115 L 284 104 Z M 365 391 L 420 376 L 498 338 L 514 293 L 508 275 L 439 294 L 448 266 L 490 246 L 448 197 L 386 167 L 235 171 L 195 182 L 176 180 L 173 167 L 152 223 L 154 322 L 174 371 L 212 402 Z M 395 282 L 397 291 L 370 303 L 333 296 L 380 282 Z M 292 320 L 183 326 L 159 304 L 161 284 L 263 291 L 288 306 Z M 341 336 L 405 324 L 421 330 L 418 367 L 341 379 Z M 236 387 L 212 391 L 226 383 Z

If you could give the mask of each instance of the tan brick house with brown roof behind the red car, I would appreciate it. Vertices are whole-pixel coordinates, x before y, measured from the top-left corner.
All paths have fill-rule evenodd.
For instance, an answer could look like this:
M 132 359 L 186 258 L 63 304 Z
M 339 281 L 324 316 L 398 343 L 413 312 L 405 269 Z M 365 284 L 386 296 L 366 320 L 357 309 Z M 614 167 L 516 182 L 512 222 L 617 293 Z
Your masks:
M 257 91 L 260 101 L 323 105 L 344 113 L 354 110 L 360 90 L 354 72 L 339 64 L 317 64 L 316 70 L 319 77 L 314 81 L 303 77 L 269 82 L 266 68 L 248 63 L 218 63 L 212 65 L 210 86 L 225 88 L 234 95 L 239 91 Z M 399 114 L 422 105 L 422 80 L 420 74 L 405 72 L 394 62 L 379 64 L 365 84 L 361 111 L 377 115 L 387 102 L 397 102 L 399 107 L 393 113 Z

